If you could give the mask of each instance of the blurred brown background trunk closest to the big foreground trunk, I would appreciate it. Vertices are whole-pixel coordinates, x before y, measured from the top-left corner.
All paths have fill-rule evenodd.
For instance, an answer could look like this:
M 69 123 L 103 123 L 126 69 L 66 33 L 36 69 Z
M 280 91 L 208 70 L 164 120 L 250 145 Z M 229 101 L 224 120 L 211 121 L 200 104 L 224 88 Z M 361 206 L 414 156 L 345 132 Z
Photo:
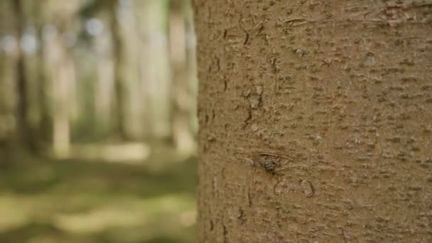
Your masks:
M 190 95 L 188 54 L 186 53 L 185 1 L 170 1 L 170 54 L 172 77 L 172 133 L 175 148 L 181 153 L 195 151 L 195 140 L 190 129 L 193 97 Z

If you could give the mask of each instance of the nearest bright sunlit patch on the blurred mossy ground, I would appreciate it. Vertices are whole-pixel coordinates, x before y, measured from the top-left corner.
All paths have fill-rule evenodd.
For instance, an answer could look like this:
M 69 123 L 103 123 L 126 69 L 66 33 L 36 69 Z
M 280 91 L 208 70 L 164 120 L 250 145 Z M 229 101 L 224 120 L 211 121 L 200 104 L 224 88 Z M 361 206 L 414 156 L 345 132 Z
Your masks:
M 113 227 L 141 225 L 143 229 L 151 229 L 151 225 L 169 218 L 164 227 L 173 225 L 174 228 L 178 228 L 183 226 L 180 220 L 183 212 L 195 209 L 194 202 L 193 196 L 190 195 L 163 195 L 145 200 L 123 200 L 87 212 L 56 215 L 55 225 L 74 234 L 89 234 Z

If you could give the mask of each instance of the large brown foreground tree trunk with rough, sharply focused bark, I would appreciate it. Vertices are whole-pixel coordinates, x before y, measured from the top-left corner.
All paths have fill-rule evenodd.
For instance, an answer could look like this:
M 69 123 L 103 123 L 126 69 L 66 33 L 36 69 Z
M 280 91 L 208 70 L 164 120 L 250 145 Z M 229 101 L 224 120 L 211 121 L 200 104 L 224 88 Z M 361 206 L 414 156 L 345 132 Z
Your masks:
M 431 1 L 195 19 L 200 242 L 432 242 Z

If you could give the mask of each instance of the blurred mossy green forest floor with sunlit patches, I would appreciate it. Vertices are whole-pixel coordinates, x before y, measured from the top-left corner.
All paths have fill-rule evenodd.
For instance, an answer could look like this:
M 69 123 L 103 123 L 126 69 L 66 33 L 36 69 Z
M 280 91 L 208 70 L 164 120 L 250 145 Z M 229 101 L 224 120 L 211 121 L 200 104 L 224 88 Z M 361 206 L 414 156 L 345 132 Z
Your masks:
M 195 242 L 196 158 L 142 163 L 11 158 L 0 242 Z

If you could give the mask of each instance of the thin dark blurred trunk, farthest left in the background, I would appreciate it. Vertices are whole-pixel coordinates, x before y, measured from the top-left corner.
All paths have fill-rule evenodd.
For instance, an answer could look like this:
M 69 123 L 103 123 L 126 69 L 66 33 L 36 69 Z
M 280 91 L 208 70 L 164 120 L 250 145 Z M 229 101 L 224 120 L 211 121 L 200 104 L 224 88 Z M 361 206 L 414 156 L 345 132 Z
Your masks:
M 21 45 L 23 26 L 25 24 L 23 5 L 21 0 L 12 1 L 13 11 L 16 17 L 16 37 L 18 41 L 18 54 L 16 60 L 16 129 L 18 140 L 22 146 L 34 150 L 35 143 L 28 119 L 28 83 L 26 80 L 26 64 Z

